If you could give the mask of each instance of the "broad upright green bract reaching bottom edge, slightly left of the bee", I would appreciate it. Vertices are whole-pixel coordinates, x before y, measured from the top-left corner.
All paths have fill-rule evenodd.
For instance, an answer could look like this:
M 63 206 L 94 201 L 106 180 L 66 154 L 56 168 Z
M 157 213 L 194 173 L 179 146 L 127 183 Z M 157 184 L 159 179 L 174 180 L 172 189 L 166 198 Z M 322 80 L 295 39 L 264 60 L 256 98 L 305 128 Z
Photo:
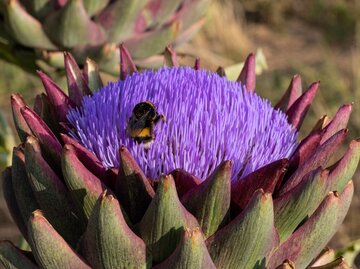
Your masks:
M 91 213 L 82 253 L 93 268 L 148 268 L 144 241 L 127 226 L 119 202 L 104 192 Z

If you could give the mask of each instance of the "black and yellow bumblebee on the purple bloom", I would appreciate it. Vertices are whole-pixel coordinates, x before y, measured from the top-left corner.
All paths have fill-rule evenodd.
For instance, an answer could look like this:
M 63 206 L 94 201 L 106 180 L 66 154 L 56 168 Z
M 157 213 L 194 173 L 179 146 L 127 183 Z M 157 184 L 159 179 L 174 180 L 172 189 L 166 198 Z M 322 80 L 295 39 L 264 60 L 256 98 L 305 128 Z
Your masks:
M 127 122 L 127 133 L 137 143 L 143 143 L 149 148 L 155 139 L 154 126 L 165 117 L 160 115 L 153 103 L 143 101 L 135 105 Z

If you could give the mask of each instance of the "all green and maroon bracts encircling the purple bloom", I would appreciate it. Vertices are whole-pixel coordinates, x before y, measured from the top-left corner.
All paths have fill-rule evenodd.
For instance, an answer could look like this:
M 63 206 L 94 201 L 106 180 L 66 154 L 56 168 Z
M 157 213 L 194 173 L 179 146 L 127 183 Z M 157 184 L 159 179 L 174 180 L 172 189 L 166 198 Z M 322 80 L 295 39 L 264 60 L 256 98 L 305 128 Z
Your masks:
M 125 79 L 137 69 L 124 46 L 120 55 Z M 177 65 L 171 49 L 165 57 Z M 46 94 L 36 97 L 34 109 L 19 94 L 11 99 L 21 144 L 2 183 L 31 252 L 2 241 L 6 268 L 346 268 L 342 258 L 321 251 L 353 196 L 360 140 L 329 163 L 348 133 L 351 105 L 340 107 L 326 125 L 317 124 L 289 159 L 241 180 L 231 181 L 231 160 L 203 181 L 181 169 L 150 180 L 125 147 L 119 167 L 105 169 L 65 134 L 59 123 L 69 104 L 76 106 L 79 96 L 102 85 L 92 61 L 83 73 L 66 53 L 65 67 L 69 96 L 39 72 Z M 254 67 L 250 55 L 238 78 L 252 92 Z M 297 129 L 318 87 L 302 93 L 295 76 L 276 105 Z

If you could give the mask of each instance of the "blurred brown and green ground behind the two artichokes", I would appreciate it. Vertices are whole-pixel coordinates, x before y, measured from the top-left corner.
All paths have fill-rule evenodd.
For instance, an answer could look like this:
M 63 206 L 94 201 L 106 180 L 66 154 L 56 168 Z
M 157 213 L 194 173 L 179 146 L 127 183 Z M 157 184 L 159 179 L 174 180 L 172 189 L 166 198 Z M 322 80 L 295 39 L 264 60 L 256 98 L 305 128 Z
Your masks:
M 332 117 L 341 104 L 353 102 L 348 142 L 360 136 L 360 1 L 214 0 L 205 26 L 191 42 L 177 48 L 177 52 L 181 63 L 192 65 L 195 57 L 200 57 L 202 67 L 215 71 L 218 66 L 241 63 L 247 54 L 259 49 L 267 64 L 262 61 L 256 91 L 273 104 L 295 74 L 301 75 L 303 89 L 321 81 L 302 134 L 311 130 L 321 116 Z M 240 68 L 235 70 L 239 72 Z M 61 72 L 55 80 L 66 88 Z M 35 93 L 41 91 L 36 75 L 0 60 L 2 133 L 11 132 L 6 129 L 6 120 L 13 128 L 10 94 L 20 92 L 32 104 Z M 8 161 L 6 147 L 13 143 L 9 139 L 6 143 L 0 141 L 2 166 Z M 339 155 L 344 151 L 345 148 Z M 360 238 L 360 171 L 354 180 L 356 195 L 343 226 L 331 242 L 332 247 L 343 247 Z M 18 234 L 1 197 L 0 238 L 16 240 Z

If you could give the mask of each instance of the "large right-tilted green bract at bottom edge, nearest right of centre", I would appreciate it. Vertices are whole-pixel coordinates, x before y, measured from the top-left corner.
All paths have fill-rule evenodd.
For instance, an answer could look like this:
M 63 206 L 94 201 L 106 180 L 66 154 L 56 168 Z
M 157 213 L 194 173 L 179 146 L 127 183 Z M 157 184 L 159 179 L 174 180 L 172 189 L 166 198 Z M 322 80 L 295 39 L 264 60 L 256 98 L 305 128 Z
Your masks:
M 244 211 L 206 243 L 217 268 L 262 268 L 274 236 L 272 197 L 259 190 Z

